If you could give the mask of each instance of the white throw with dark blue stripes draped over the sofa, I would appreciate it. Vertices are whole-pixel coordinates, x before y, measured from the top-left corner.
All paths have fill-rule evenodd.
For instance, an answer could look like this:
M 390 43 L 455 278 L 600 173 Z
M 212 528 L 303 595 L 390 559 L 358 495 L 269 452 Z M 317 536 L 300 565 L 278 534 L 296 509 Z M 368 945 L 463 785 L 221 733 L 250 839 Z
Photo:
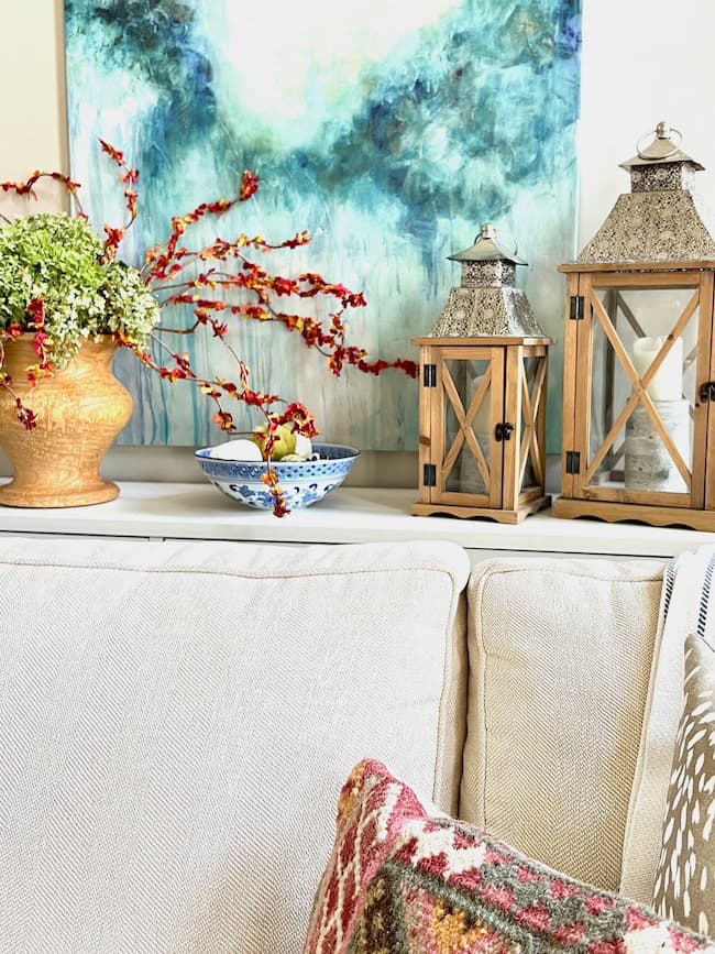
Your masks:
M 620 890 L 650 903 L 662 844 L 663 814 L 678 724 L 683 710 L 685 639 L 715 646 L 715 548 L 675 558 L 663 575 L 648 699 L 624 837 Z

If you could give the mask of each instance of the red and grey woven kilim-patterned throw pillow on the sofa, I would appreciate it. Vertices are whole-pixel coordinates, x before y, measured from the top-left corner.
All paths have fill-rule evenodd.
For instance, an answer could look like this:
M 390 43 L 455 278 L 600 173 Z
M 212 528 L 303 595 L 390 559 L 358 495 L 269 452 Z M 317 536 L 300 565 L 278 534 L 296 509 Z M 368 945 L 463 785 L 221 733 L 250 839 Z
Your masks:
M 439 813 L 362 761 L 304 954 L 715 954 L 652 910 L 582 885 Z

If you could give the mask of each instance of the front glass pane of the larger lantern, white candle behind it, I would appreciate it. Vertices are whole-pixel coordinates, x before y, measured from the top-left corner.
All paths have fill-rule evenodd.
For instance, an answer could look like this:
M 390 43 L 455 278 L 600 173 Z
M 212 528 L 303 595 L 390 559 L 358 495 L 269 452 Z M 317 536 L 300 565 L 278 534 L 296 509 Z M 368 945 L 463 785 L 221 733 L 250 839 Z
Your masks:
M 689 494 L 697 354 L 697 288 L 597 287 L 591 336 L 591 486 Z M 672 344 L 636 392 L 661 349 Z

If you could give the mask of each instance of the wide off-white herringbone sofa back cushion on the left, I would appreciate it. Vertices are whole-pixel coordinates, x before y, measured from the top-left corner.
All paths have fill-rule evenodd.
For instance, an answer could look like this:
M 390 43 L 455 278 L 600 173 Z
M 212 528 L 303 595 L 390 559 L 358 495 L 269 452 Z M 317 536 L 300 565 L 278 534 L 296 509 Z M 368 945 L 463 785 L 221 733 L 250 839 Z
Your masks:
M 299 952 L 365 754 L 453 809 L 451 545 L 14 542 L 0 556 L 0 946 Z

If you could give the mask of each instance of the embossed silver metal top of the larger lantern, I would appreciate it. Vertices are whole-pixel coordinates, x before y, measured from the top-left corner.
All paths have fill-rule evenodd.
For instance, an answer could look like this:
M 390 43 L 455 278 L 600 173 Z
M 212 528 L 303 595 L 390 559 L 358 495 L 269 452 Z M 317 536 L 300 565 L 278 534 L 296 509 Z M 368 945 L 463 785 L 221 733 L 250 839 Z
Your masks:
M 715 260 L 715 218 L 692 191 L 704 166 L 682 151 L 681 139 L 659 122 L 638 140 L 636 155 L 620 163 L 631 190 L 618 197 L 579 264 Z

